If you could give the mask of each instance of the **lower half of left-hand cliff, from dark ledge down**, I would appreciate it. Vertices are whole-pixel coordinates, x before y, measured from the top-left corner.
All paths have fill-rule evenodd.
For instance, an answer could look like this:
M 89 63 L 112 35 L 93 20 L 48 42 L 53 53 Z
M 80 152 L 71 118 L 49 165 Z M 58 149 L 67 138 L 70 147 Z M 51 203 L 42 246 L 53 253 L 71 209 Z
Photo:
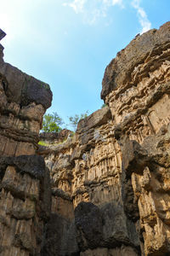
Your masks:
M 38 161 L 37 158 L 39 158 Z M 49 216 L 50 186 L 42 159 L 32 156 L 37 172 L 22 167 L 21 157 L 3 157 L 0 163 L 0 255 L 39 255 L 43 223 Z M 1 159 L 2 160 L 2 159 Z M 24 156 L 29 163 L 30 156 Z M 16 164 L 17 163 L 17 164 Z M 19 166 L 17 166 L 19 165 Z M 43 181 L 42 181 L 43 180 Z

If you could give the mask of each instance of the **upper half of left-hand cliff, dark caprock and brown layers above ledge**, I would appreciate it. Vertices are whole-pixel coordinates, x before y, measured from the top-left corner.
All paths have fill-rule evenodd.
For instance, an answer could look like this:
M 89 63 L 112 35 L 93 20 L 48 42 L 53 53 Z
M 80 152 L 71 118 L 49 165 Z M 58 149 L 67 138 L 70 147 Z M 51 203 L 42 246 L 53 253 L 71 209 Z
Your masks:
M 35 154 L 52 93 L 48 84 L 5 63 L 3 49 L 0 59 L 0 154 Z

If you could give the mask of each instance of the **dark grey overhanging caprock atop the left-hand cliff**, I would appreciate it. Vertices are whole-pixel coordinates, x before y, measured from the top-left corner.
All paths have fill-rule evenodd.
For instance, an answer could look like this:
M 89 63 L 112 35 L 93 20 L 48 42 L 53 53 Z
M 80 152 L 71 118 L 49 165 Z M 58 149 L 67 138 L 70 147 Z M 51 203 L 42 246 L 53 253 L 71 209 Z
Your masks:
M 0 29 L 0 40 L 5 35 L 5 32 Z M 21 107 L 35 102 L 41 104 L 45 110 L 51 106 L 53 94 L 49 85 L 3 61 L 2 44 L 0 44 L 0 62 L 0 77 L 6 84 L 5 94 L 8 97 L 8 102 L 15 102 Z

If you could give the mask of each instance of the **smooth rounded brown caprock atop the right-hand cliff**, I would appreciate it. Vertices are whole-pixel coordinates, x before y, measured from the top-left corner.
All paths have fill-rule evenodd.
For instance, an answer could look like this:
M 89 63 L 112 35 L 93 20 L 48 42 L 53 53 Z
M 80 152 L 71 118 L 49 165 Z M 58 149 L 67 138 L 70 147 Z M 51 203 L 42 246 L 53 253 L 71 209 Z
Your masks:
M 101 99 L 105 101 L 105 97 L 112 90 L 131 83 L 131 74 L 140 63 L 147 62 L 152 55 L 157 55 L 169 47 L 170 21 L 160 26 L 158 30 L 151 29 L 142 35 L 137 35 L 105 68 Z

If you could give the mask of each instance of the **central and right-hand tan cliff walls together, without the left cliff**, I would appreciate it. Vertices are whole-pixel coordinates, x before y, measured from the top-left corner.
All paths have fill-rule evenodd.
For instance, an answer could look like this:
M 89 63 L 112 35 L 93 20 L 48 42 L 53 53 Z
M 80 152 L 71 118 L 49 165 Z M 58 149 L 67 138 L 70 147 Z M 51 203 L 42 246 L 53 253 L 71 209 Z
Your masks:
M 167 22 L 138 35 L 106 67 L 101 97 L 108 107 L 82 119 L 65 143 L 39 149 L 50 170 L 53 218 L 60 219 L 60 236 L 47 224 L 42 251 L 170 253 L 169 70 Z M 51 229 L 60 239 L 55 248 Z

